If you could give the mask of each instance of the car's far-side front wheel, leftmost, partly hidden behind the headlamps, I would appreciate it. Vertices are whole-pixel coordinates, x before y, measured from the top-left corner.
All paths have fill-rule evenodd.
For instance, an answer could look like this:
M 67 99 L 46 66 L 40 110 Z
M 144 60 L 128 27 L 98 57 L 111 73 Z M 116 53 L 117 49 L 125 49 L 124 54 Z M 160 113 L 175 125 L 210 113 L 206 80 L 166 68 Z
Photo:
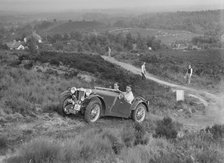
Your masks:
M 58 113 L 62 116 L 69 115 L 70 113 L 67 111 L 69 107 L 72 107 L 72 103 L 69 102 L 71 99 L 70 94 L 65 94 L 60 98 L 60 106 L 58 108 Z

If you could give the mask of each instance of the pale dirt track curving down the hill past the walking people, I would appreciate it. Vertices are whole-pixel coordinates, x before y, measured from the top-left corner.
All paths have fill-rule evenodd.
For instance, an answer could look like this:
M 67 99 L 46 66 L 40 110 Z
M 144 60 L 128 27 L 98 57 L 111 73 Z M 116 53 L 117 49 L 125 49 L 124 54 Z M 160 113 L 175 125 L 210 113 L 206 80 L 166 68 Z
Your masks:
M 117 61 L 116 59 L 108 56 L 102 56 L 102 57 L 104 60 L 116 64 L 134 74 L 141 74 L 140 68 L 137 68 L 131 64 Z M 148 80 L 152 80 L 158 84 L 165 85 L 173 89 L 184 90 L 188 96 L 197 98 L 202 104 L 205 105 L 206 109 L 204 114 L 192 115 L 190 119 L 181 120 L 182 122 L 187 123 L 188 125 L 191 126 L 197 126 L 199 128 L 212 125 L 215 123 L 224 124 L 224 102 L 223 102 L 224 95 L 215 95 L 205 90 L 199 90 L 186 87 L 183 85 L 173 84 L 167 81 L 163 81 L 158 77 L 149 73 L 146 74 L 146 78 Z

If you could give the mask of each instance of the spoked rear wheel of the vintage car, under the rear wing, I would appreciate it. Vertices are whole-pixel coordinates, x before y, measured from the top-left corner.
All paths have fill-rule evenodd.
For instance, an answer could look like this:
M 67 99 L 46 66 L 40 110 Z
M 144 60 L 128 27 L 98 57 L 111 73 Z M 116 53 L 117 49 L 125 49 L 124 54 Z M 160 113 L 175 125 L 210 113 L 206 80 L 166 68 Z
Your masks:
M 132 119 L 135 122 L 142 122 L 146 117 L 146 106 L 144 104 L 139 104 L 136 109 L 132 112 Z

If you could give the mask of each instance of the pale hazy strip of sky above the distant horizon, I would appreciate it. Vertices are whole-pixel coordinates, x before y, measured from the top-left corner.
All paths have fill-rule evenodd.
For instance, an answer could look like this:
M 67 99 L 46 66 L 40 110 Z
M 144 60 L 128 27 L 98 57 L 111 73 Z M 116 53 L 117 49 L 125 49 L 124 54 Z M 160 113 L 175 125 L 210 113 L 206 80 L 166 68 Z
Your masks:
M 5 11 L 65 11 L 148 8 L 152 10 L 224 9 L 224 0 L 0 0 Z

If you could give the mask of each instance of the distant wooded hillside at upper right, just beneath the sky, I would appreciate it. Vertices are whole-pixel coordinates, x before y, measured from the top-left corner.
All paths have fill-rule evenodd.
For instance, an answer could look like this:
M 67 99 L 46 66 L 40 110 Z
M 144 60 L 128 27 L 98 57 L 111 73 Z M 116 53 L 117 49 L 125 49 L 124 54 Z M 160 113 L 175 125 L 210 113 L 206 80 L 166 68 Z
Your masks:
M 187 30 L 195 33 L 223 32 L 223 10 L 144 14 L 115 23 L 121 27 Z

